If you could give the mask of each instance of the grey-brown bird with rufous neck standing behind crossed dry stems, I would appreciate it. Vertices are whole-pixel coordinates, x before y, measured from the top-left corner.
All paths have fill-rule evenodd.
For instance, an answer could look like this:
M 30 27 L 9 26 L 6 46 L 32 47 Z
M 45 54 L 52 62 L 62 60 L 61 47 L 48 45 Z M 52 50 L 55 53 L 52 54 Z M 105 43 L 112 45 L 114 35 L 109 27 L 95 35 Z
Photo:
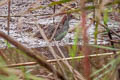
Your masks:
M 74 16 L 71 14 L 67 14 L 64 16 L 63 21 L 61 21 L 61 23 L 59 23 L 60 25 L 58 26 L 58 29 L 57 29 L 53 39 L 55 39 L 56 41 L 59 41 L 65 37 L 65 35 L 67 34 L 68 29 L 69 29 L 69 21 L 73 18 L 74 18 Z M 54 24 L 48 25 L 48 27 L 44 30 L 48 39 L 51 38 L 53 32 L 55 31 L 54 26 L 55 26 Z M 40 34 L 40 31 L 37 31 L 33 36 L 43 39 Z

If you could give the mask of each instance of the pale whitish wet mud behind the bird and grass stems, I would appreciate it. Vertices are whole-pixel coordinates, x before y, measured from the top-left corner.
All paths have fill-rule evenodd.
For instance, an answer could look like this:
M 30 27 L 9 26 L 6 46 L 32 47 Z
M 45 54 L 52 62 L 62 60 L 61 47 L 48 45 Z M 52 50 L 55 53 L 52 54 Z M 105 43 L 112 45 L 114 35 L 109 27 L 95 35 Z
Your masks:
M 38 39 L 36 37 L 33 37 L 33 35 L 38 31 L 38 28 L 36 26 L 37 24 L 43 24 L 43 25 L 49 25 L 53 22 L 60 22 L 62 16 L 54 17 L 55 20 L 53 21 L 53 18 L 43 18 L 50 14 L 53 14 L 53 7 L 47 7 L 44 9 L 37 9 L 33 10 L 31 12 L 25 13 L 28 9 L 34 7 L 38 7 L 39 5 L 46 6 L 49 4 L 49 0 L 44 1 L 35 1 L 35 0 L 12 0 L 11 1 L 11 11 L 10 11 L 10 36 L 14 39 L 18 40 L 22 44 L 26 45 L 27 47 L 40 47 L 40 46 L 47 46 L 48 44 L 43 39 Z M 60 6 L 57 7 L 56 12 L 59 12 Z M 0 29 L 7 33 L 7 15 L 8 15 L 8 4 L 0 6 Z M 90 13 L 92 14 L 92 12 Z M 37 15 L 37 16 L 35 16 Z M 91 16 L 90 16 L 91 17 Z M 89 20 L 87 20 L 89 25 Z M 80 23 L 79 20 L 71 20 L 70 21 L 70 27 L 75 27 Z M 108 23 L 109 27 L 114 27 L 114 29 L 118 30 L 118 27 L 120 23 L 111 20 Z M 117 28 L 116 28 L 117 27 Z M 88 36 L 90 43 L 94 42 L 94 25 L 91 25 L 89 27 Z M 82 36 L 82 35 L 80 35 Z M 73 44 L 74 39 L 74 33 L 68 33 L 65 38 L 59 43 L 61 45 L 63 44 Z M 108 43 L 108 38 L 105 36 L 101 37 L 101 34 L 98 39 L 99 44 L 106 44 Z M 81 44 L 81 40 L 79 43 Z M 5 47 L 5 41 L 3 39 L 0 39 L 1 46 Z M 51 45 L 54 45 L 54 42 L 52 42 Z

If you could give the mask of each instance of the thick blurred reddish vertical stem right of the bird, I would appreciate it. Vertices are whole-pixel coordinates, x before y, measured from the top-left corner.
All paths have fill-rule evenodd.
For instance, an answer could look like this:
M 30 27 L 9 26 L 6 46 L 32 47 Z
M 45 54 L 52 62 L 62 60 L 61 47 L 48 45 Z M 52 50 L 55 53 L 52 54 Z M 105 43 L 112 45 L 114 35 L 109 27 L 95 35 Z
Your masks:
M 86 13 L 85 11 L 82 12 L 82 31 L 83 31 L 83 47 L 82 47 L 82 52 L 85 56 L 85 58 L 83 59 L 83 68 L 84 68 L 84 75 L 86 77 L 87 80 L 91 80 L 90 79 L 90 73 L 91 73 L 91 68 L 90 68 L 90 62 L 89 62 L 89 54 L 90 54 L 90 50 L 88 47 L 88 35 L 87 35 L 87 26 L 86 26 Z

